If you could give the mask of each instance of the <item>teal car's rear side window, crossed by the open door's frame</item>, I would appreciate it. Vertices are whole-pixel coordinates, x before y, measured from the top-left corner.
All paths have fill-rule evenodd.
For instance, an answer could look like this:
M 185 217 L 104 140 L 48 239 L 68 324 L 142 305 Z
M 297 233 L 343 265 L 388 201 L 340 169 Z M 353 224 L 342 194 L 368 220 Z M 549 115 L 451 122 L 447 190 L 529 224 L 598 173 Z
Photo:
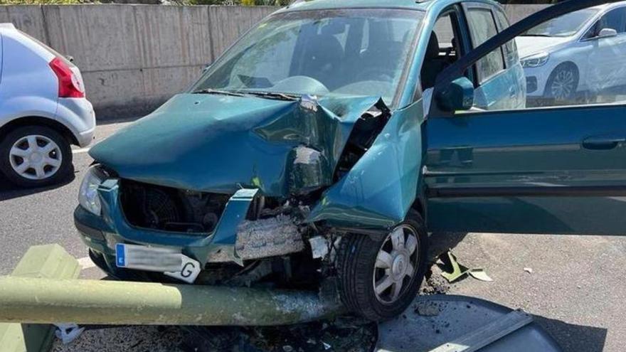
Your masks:
M 498 31 L 492 11 L 482 8 L 470 8 L 467 11 L 467 23 L 470 26 L 472 46 L 477 48 L 489 38 L 497 35 Z M 504 70 L 502 49 L 497 49 L 477 62 L 479 82 L 482 83 L 496 73 Z

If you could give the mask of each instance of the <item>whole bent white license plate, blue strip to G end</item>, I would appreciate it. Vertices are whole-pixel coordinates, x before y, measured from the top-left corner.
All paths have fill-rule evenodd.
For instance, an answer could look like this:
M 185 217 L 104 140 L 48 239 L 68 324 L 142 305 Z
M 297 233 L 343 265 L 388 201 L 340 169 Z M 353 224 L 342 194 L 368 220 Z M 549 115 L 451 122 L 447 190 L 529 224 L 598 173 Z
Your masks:
M 125 243 L 115 245 L 115 265 L 127 269 L 163 272 L 190 284 L 201 271 L 200 262 L 177 250 Z

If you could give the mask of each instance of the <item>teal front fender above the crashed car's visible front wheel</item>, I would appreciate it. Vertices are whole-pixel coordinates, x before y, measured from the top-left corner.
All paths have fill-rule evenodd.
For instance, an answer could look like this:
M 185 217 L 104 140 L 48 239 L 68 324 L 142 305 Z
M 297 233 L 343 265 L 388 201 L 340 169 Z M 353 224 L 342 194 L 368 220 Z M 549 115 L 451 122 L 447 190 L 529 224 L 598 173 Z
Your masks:
M 391 228 L 415 197 L 422 161 L 421 100 L 395 112 L 351 171 L 331 186 L 310 221 L 346 228 Z

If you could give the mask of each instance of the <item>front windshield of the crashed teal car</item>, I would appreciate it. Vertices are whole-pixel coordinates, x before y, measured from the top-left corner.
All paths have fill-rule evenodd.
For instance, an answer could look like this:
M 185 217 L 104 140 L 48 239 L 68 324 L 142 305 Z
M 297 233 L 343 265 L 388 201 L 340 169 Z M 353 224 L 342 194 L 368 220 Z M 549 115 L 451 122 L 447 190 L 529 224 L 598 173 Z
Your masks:
M 341 9 L 271 16 L 230 48 L 193 92 L 375 95 L 391 104 L 422 11 Z

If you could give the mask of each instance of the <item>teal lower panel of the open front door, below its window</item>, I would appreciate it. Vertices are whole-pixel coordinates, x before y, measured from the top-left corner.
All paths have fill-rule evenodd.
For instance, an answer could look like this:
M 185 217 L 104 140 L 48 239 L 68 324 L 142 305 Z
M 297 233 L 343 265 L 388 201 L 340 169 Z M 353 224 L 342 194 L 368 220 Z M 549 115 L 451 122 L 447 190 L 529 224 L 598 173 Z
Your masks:
M 458 114 L 426 124 L 425 183 L 431 193 L 474 193 L 431 198 L 431 229 L 586 234 L 626 229 L 626 202 L 620 197 L 626 188 L 626 146 L 591 144 L 626 140 L 623 106 Z

